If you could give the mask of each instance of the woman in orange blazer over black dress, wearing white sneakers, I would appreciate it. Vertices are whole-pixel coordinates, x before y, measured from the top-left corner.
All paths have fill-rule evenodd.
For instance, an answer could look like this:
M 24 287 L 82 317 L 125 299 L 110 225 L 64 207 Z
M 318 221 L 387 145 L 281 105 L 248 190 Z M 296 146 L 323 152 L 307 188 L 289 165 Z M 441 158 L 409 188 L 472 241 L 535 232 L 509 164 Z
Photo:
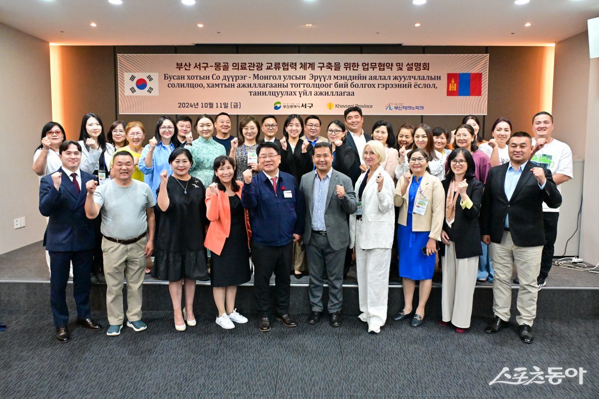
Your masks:
M 234 162 L 220 156 L 214 160 L 213 183 L 206 190 L 206 212 L 210 226 L 204 245 L 210 249 L 210 281 L 219 311 L 216 324 L 234 328 L 247 319 L 235 309 L 237 286 L 250 281 L 247 211 L 241 205 L 243 182 L 235 180 Z

